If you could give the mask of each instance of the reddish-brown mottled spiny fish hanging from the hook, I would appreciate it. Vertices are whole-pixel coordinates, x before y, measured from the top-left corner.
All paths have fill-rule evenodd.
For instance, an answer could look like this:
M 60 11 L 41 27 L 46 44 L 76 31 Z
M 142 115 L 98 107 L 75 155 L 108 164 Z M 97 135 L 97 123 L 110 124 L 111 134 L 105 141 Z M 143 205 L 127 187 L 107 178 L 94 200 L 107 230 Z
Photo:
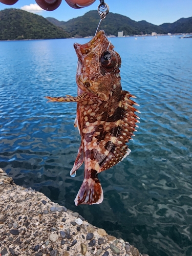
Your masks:
M 84 180 L 75 198 L 75 205 L 100 204 L 103 190 L 98 174 L 122 161 L 131 150 L 127 142 L 134 136 L 140 113 L 131 98 L 122 90 L 120 55 L 103 30 L 86 44 L 74 44 L 78 57 L 77 96 L 46 98 L 51 102 L 77 102 L 74 126 L 81 143 L 70 175 L 84 162 Z M 139 106 L 139 105 L 138 105 Z

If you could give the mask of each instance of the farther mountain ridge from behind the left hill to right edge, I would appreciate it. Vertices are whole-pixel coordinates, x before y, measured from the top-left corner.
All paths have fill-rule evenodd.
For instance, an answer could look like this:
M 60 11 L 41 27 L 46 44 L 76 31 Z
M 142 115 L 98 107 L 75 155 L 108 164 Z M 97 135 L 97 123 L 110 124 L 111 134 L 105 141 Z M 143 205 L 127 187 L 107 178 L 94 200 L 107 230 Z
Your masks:
M 55 18 L 47 18 L 54 25 L 65 29 L 68 33 L 75 37 L 92 36 L 95 34 L 99 23 L 98 12 L 89 11 L 83 16 L 70 19 L 68 22 L 59 22 Z M 129 17 L 121 14 L 110 12 L 101 23 L 100 29 L 103 29 L 107 35 L 116 35 L 117 32 L 123 30 L 124 35 L 134 34 L 151 34 L 157 32 L 160 34 L 167 33 L 190 33 L 192 32 L 192 17 L 181 18 L 177 22 L 169 24 L 165 23 L 160 26 L 141 20 L 135 22 Z

